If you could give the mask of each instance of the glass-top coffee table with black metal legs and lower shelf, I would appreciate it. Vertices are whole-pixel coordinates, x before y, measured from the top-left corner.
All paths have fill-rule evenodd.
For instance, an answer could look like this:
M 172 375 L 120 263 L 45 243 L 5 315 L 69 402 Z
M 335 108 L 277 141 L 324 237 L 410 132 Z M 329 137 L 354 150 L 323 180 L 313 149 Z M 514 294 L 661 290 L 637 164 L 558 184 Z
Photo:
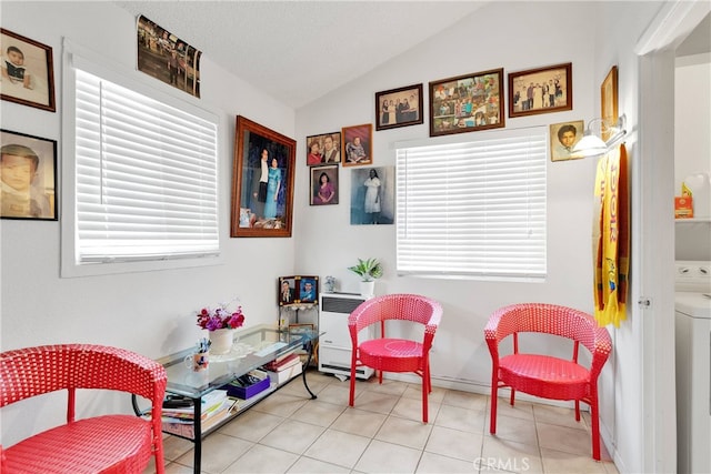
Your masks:
M 202 399 L 209 396 L 211 392 L 223 387 L 226 384 L 236 381 L 254 369 L 259 369 L 297 350 L 302 351 L 303 355 L 306 355 L 303 370 L 301 371 L 303 386 L 311 399 L 317 397 L 313 392 L 311 392 L 311 389 L 309 389 L 306 373 L 306 367 L 309 366 L 313 355 L 313 346 L 320 335 L 317 330 L 304 326 L 279 330 L 277 326 L 263 324 L 236 330 L 234 335 L 236 340 L 232 351 L 227 354 L 211 354 L 210 363 L 203 371 L 193 372 L 192 367 L 184 363 L 186 357 L 196 352 L 194 347 L 186 349 L 184 351 L 158 360 L 168 373 L 166 394 L 170 397 L 179 396 L 190 399 L 192 402 L 193 422 L 184 426 L 177 426 L 180 428 L 179 432 L 173 430 L 176 426 L 172 426 L 172 423 L 169 425 L 163 423 L 163 432 L 190 440 L 194 443 L 194 473 L 200 473 L 202 438 L 204 436 L 214 432 L 236 416 L 244 413 L 250 406 L 281 389 L 296 379 L 296 376 L 282 384 L 270 383 L 269 389 L 244 400 L 244 403 L 240 403 L 239 410 L 234 411 L 230 409 L 219 421 L 214 422 L 214 420 L 211 420 L 210 425 L 203 428 L 203 420 L 201 420 Z M 133 396 L 133 409 L 137 414 L 146 413 L 146 410 L 141 410 L 138 406 L 136 396 Z

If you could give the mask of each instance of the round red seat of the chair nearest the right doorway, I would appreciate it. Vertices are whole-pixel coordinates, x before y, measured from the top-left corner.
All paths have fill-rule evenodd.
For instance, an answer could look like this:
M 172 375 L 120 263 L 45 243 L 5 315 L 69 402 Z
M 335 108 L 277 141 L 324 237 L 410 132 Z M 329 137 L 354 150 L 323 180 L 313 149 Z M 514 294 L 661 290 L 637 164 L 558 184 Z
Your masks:
M 530 395 L 580 400 L 588 395 L 590 372 L 572 361 L 540 354 L 511 354 L 499 361 L 499 380 Z

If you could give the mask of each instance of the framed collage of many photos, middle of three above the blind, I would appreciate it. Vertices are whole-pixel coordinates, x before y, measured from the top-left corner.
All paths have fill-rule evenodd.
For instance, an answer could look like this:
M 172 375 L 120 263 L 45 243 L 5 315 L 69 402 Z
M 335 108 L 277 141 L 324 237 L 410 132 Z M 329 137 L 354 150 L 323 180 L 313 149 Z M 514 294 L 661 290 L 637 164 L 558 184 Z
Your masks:
M 430 137 L 504 127 L 503 69 L 430 82 Z

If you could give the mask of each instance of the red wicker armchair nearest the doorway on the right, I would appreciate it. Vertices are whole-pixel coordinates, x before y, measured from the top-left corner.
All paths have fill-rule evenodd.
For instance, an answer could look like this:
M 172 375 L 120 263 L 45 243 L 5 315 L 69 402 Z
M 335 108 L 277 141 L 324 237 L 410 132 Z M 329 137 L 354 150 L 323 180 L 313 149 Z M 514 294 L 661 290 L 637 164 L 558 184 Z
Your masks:
M 538 332 L 573 340 L 572 360 L 549 355 L 519 353 L 519 333 Z M 513 336 L 513 354 L 499 355 L 499 343 Z M 491 374 L 491 425 L 497 432 L 497 401 L 500 387 L 551 400 L 575 402 L 575 420 L 580 421 L 580 402 L 590 405 L 592 420 L 592 457 L 600 461 L 600 421 L 598 418 L 598 376 L 612 350 L 610 334 L 598 327 L 593 317 L 571 307 L 543 303 L 512 304 L 495 311 L 484 336 L 493 363 Z M 590 369 L 578 363 L 580 344 L 592 354 Z

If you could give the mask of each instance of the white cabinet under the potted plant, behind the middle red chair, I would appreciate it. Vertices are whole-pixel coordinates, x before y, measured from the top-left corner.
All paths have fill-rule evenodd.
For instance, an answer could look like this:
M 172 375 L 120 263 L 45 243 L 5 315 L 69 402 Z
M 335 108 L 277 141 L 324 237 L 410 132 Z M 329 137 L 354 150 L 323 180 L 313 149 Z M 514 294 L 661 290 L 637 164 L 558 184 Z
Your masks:
M 356 293 L 322 293 L 319 312 L 319 371 L 336 375 L 351 374 L 351 335 L 348 331 L 348 316 L 365 301 Z M 364 329 L 359 341 L 375 336 L 375 325 Z M 370 367 L 358 367 L 357 379 L 368 379 L 373 374 Z

